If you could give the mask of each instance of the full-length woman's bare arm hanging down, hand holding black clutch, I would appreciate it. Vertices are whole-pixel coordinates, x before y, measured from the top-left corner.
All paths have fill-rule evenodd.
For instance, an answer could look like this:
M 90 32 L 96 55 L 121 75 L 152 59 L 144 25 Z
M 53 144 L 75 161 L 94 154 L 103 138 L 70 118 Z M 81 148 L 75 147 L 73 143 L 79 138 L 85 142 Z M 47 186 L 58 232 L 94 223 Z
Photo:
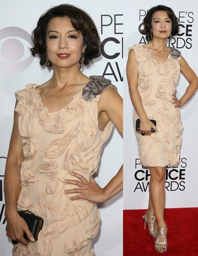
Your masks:
M 129 94 L 131 97 L 132 104 L 136 113 L 140 118 L 140 134 L 142 132 L 145 135 L 151 135 L 151 128 L 156 131 L 156 126 L 148 119 L 146 112 L 144 111 L 140 94 L 138 92 L 138 70 L 137 62 L 135 60 L 136 53 L 132 49 L 128 55 L 127 65 L 126 65 L 126 76 L 128 81 Z

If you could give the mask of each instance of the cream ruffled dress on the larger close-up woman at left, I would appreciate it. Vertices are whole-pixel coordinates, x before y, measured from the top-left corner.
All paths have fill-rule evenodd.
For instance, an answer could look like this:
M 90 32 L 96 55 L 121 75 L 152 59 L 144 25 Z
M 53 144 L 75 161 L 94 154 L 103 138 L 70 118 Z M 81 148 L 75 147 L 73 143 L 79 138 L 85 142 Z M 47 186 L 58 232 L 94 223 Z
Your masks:
M 90 239 L 98 231 L 97 206 L 82 199 L 71 201 L 75 194 L 65 195 L 64 190 L 76 186 L 63 181 L 76 179 L 71 171 L 88 181 L 96 172 L 102 146 L 112 130 L 112 122 L 103 131 L 98 129 L 97 103 L 105 89 L 116 87 L 102 76 L 90 76 L 86 87 L 53 113 L 42 104 L 35 87 L 29 84 L 15 93 L 25 157 L 17 207 L 41 216 L 44 225 L 38 241 L 14 245 L 13 255 L 94 255 Z

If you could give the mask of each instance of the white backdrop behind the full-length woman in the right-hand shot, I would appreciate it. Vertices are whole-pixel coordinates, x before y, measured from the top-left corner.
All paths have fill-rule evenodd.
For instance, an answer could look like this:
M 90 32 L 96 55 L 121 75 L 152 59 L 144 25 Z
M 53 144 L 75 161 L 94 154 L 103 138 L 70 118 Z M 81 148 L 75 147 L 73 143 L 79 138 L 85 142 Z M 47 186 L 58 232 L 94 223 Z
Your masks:
M 135 138 L 132 115 L 133 106 L 128 93 L 126 82 L 126 61 L 128 48 L 135 43 L 144 43 L 138 27 L 142 23 L 147 10 L 152 6 L 164 4 L 171 7 L 179 18 L 180 35 L 171 40 L 178 48 L 189 66 L 198 74 L 197 68 L 197 26 L 198 2 L 188 0 L 157 1 L 141 0 L 131 4 L 125 0 L 124 8 L 124 209 L 146 209 L 148 207 L 148 168 L 143 168 L 139 162 L 138 146 Z M 180 98 L 188 83 L 180 76 L 177 85 L 177 97 Z M 178 165 L 168 166 L 166 176 L 166 208 L 198 207 L 197 193 L 197 143 L 196 128 L 198 95 L 196 94 L 182 109 L 181 118 L 184 126 L 182 132 L 181 159 Z

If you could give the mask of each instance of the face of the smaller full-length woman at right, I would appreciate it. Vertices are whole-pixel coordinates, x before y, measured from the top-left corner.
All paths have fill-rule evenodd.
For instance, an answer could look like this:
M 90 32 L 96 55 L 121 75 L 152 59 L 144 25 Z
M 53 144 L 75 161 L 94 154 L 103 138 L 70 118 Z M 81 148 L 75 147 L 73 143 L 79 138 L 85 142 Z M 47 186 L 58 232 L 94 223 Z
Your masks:
M 153 37 L 167 39 L 171 34 L 172 22 L 166 11 L 157 11 L 153 13 L 151 31 Z

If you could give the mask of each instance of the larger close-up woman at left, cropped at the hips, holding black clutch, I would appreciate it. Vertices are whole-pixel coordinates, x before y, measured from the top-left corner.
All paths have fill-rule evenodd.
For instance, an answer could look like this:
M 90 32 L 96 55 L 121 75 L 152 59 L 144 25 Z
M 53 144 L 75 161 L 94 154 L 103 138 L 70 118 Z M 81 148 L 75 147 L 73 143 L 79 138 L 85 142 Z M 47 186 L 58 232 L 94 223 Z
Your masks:
M 15 93 L 4 178 L 6 234 L 19 242 L 13 255 L 94 255 L 96 203 L 122 189 L 122 168 L 104 188 L 91 175 L 112 125 L 122 134 L 122 98 L 110 80 L 79 69 L 101 54 L 86 12 L 69 4 L 49 9 L 32 41 L 31 52 L 54 73 L 46 83 Z M 44 219 L 38 241 L 17 208 Z

